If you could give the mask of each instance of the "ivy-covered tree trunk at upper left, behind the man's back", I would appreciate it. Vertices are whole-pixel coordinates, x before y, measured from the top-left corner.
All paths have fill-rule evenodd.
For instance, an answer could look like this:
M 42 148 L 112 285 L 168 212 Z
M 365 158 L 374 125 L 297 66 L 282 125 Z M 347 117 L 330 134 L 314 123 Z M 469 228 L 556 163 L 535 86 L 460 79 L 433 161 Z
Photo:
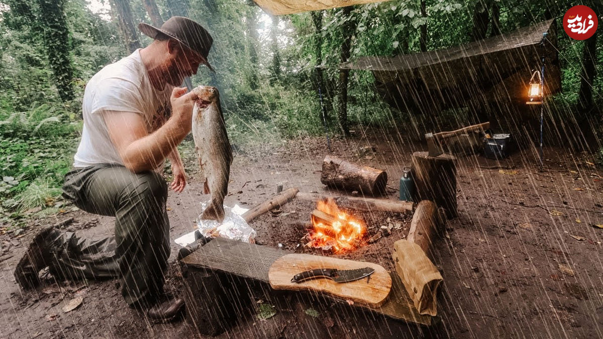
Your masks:
M 64 0 L 39 0 L 40 20 L 44 31 L 44 45 L 48 63 L 57 85 L 58 95 L 63 102 L 74 99 L 71 84 L 73 69 L 69 57 L 69 28 L 65 19 Z

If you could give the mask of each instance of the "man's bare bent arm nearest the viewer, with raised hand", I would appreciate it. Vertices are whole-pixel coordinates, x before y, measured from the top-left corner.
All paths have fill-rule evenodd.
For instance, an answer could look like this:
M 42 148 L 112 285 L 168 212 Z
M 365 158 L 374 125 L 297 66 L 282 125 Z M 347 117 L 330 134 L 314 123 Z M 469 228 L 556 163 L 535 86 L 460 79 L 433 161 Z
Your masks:
M 134 173 L 152 170 L 180 144 L 191 131 L 194 92 L 175 88 L 172 92 L 172 116 L 151 134 L 144 119 L 133 112 L 106 112 L 104 119 L 109 136 L 128 170 Z

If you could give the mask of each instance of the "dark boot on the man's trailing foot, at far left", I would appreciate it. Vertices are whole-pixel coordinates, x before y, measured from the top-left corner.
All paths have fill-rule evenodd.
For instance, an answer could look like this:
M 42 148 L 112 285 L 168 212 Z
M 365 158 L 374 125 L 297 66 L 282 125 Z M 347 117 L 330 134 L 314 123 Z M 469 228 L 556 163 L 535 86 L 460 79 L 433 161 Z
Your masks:
M 34 236 L 27 251 L 14 270 L 14 279 L 22 288 L 34 288 L 40 285 L 40 270 L 48 267 L 52 261 L 51 246 L 48 239 L 58 231 L 53 226 L 46 227 Z

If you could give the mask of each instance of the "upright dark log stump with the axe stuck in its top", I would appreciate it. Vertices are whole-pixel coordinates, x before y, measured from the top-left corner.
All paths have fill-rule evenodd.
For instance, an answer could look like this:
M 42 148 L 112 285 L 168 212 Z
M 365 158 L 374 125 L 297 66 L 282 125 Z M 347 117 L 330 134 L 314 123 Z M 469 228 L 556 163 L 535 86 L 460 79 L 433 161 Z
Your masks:
M 446 210 L 446 217 L 456 218 L 456 157 L 428 152 L 412 153 L 412 177 L 417 200 L 431 200 Z

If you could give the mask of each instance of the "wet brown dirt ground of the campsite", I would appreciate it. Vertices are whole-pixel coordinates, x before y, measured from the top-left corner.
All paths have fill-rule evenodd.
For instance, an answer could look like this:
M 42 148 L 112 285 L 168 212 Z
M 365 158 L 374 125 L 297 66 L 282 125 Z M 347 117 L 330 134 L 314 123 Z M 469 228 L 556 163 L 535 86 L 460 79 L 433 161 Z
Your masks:
M 366 146 L 374 151 L 361 149 Z M 388 198 L 395 199 L 403 167 L 411 165 L 413 151 L 426 150 L 426 145 L 385 134 L 332 141 L 332 149 L 336 156 L 387 170 Z M 320 170 L 327 153 L 322 138 L 238 152 L 225 204 L 251 208 L 270 198 L 279 183 L 285 189 L 325 192 Z M 307 306 L 292 299 L 289 305 L 275 305 L 274 317 L 241 319 L 219 337 L 603 337 L 603 229 L 596 227 L 603 224 L 603 173 L 590 165 L 592 160 L 560 148 L 545 148 L 545 171 L 540 172 L 535 154 L 528 148 L 500 163 L 481 156 L 459 157 L 459 215 L 448 221 L 445 235 L 435 244 L 434 260 L 444 286 L 434 325 L 414 326 L 345 305 L 314 305 L 316 312 L 308 312 Z M 170 192 L 168 198 L 172 239 L 194 230 L 200 201 L 208 198 L 201 194 L 194 159 L 187 163 L 188 186 L 181 194 Z M 283 206 L 283 212 L 295 211 L 300 219 L 309 219 L 311 207 L 294 200 Z M 68 206 L 65 213 L 45 220 L 31 220 L 32 227 L 19 236 L 0 236 L 0 337 L 198 336 L 185 320 L 148 322 L 144 314 L 127 307 L 118 280 L 49 279 L 37 290 L 21 290 L 13 270 L 40 227 L 35 224 L 74 218 L 64 229 L 92 238 L 112 234 L 113 218 L 71 209 Z M 391 269 L 391 243 L 406 235 L 410 217 L 399 217 L 400 229 L 359 250 L 354 258 Z M 279 231 L 283 221 L 264 215 L 251 226 L 258 230 L 260 243 L 281 243 L 292 250 L 303 233 Z M 182 287 L 175 262 L 178 248 L 172 242 L 168 286 L 175 292 Z M 63 312 L 63 306 L 75 297 L 82 297 L 83 303 Z

